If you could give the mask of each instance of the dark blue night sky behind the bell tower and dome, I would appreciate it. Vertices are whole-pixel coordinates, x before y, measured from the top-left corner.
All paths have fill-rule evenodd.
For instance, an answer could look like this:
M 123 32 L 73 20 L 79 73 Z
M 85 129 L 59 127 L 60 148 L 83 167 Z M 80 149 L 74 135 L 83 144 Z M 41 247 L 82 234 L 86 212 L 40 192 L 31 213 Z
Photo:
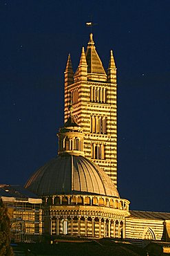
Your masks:
M 24 184 L 57 154 L 63 72 L 91 20 L 107 69 L 118 68 L 118 191 L 133 210 L 169 212 L 170 1 L 0 1 L 0 183 Z

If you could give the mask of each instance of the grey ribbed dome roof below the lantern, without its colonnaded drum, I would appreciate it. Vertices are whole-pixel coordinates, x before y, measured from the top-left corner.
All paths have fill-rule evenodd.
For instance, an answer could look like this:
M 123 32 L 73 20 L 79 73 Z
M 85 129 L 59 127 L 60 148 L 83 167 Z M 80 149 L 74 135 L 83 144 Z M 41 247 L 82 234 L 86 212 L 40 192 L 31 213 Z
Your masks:
M 101 194 L 119 197 L 109 176 L 83 156 L 63 154 L 39 168 L 25 184 L 39 196 Z

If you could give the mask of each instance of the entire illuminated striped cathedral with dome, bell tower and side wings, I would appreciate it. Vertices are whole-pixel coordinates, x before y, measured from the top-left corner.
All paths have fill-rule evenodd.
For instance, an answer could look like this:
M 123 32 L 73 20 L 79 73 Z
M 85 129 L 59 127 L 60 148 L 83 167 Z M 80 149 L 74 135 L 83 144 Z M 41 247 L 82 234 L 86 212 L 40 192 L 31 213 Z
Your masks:
M 150 241 L 170 246 L 170 214 L 129 210 L 117 189 L 116 64 L 110 51 L 108 68 L 96 51 L 92 33 L 76 71 L 71 56 L 65 68 L 65 123 L 57 134 L 58 156 L 39 168 L 25 188 L 1 185 L 14 228 L 22 220 L 22 239 L 108 237 L 140 246 Z M 120 184 L 121 185 L 121 184 Z M 13 194 L 12 194 L 13 193 Z M 28 208 L 32 206 L 30 222 Z M 17 221 L 17 218 L 19 221 Z M 20 218 L 20 219 L 19 219 Z M 31 223 L 31 228 L 29 229 Z M 19 229 L 18 229 L 19 230 Z M 21 238 L 21 237 L 20 237 Z

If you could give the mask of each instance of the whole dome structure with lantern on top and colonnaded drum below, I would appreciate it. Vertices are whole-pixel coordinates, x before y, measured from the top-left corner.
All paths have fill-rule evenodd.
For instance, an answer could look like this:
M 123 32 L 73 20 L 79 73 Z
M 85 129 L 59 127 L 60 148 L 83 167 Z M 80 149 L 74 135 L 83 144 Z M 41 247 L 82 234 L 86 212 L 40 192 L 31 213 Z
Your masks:
M 125 239 L 129 201 L 120 199 L 105 171 L 84 157 L 84 134 L 72 113 L 58 136 L 59 156 L 25 185 L 43 199 L 45 232 Z

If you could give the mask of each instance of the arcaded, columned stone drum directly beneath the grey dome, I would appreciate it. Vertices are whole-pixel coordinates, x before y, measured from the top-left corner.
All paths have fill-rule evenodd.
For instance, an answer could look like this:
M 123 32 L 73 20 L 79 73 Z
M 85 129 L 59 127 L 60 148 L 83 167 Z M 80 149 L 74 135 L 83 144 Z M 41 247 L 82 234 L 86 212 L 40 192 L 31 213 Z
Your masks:
M 76 194 L 46 197 L 45 202 L 45 230 L 50 235 L 125 239 L 125 199 Z

